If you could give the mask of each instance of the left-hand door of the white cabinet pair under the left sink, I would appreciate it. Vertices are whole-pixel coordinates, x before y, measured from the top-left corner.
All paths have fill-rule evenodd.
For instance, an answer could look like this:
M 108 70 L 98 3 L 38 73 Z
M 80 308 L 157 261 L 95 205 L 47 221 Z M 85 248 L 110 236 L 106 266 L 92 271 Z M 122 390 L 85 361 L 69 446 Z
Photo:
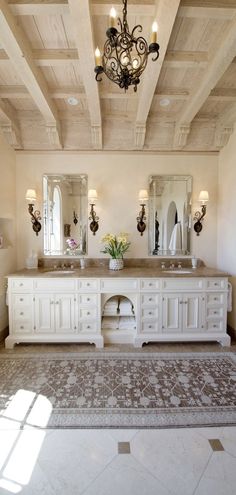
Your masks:
M 53 294 L 35 295 L 35 332 L 54 332 L 54 296 Z

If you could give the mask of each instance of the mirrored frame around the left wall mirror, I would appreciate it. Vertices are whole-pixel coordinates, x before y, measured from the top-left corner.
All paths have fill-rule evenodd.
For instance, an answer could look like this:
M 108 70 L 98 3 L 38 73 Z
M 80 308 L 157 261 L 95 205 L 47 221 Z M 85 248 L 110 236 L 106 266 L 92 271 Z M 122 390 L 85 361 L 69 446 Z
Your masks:
M 60 183 L 60 181 L 66 181 L 66 180 L 71 180 L 73 182 L 80 182 L 81 186 L 84 188 L 82 194 L 80 194 L 80 208 L 81 208 L 81 216 L 82 216 L 82 221 L 80 218 L 77 218 L 77 215 L 75 212 L 71 212 L 71 215 L 74 215 L 74 218 L 72 218 L 72 222 L 74 223 L 74 226 L 77 226 L 77 223 L 80 222 L 77 228 L 79 228 L 79 235 L 78 235 L 78 240 L 80 239 L 80 245 L 76 249 L 70 249 L 69 245 L 68 247 L 63 246 L 63 249 L 58 250 L 49 250 L 47 249 L 47 244 L 49 246 L 50 243 L 50 232 L 46 233 L 46 219 L 49 217 L 48 211 L 50 210 L 50 198 L 48 198 L 48 189 L 47 189 L 47 199 L 45 199 L 45 180 L 47 180 L 47 188 L 48 188 L 48 182 L 49 180 L 55 180 L 55 182 Z M 85 181 L 85 183 L 82 185 L 82 181 Z M 71 256 L 84 256 L 87 254 L 88 251 L 88 176 L 87 174 L 64 174 L 64 173 L 58 173 L 58 174 L 43 174 L 42 177 L 42 191 L 43 191 L 43 255 L 45 257 L 53 257 L 53 258 L 71 258 Z M 63 209 L 63 205 L 60 207 Z M 50 217 L 48 220 L 48 223 L 50 222 Z M 61 243 L 63 242 L 64 238 L 72 237 L 70 235 L 70 227 L 69 224 L 66 224 L 63 222 L 63 215 L 61 218 Z M 75 236 L 76 237 L 76 236 Z

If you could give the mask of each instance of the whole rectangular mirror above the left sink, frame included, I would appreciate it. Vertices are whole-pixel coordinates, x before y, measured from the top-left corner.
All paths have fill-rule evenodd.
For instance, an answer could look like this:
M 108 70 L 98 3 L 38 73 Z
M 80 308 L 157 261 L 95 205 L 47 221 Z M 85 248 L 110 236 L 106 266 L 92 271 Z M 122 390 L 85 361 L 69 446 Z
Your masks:
M 87 175 L 43 176 L 45 255 L 87 251 Z

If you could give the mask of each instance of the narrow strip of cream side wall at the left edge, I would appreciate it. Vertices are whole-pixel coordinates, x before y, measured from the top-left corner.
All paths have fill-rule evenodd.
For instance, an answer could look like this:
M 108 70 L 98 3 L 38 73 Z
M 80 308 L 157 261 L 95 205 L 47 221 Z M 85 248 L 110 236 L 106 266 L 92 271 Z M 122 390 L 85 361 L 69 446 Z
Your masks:
M 15 152 L 0 134 L 0 233 L 3 235 L 3 249 L 0 249 L 0 334 L 7 326 L 7 281 L 4 276 L 16 269 L 15 173 Z

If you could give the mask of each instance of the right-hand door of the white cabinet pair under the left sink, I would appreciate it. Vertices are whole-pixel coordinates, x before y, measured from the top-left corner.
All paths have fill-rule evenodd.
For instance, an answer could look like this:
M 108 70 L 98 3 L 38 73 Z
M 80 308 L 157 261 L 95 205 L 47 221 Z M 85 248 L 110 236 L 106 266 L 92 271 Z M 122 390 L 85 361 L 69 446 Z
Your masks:
M 75 296 L 56 294 L 54 297 L 56 333 L 75 333 Z

